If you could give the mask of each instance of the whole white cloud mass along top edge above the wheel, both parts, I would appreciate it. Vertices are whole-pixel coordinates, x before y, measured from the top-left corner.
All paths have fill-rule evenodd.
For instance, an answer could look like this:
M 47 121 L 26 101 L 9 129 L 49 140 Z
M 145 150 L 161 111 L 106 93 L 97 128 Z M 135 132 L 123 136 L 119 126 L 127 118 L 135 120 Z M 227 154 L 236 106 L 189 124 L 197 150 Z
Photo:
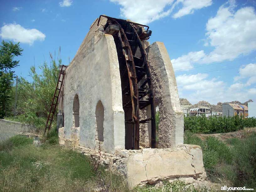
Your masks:
M 200 9 L 211 5 L 211 0 L 110 0 L 121 5 L 121 16 L 131 19 L 134 22 L 148 24 L 157 19 L 170 15 L 177 5 L 181 4 L 180 9 L 175 13 L 174 18 L 182 17 L 193 13 L 195 9 Z

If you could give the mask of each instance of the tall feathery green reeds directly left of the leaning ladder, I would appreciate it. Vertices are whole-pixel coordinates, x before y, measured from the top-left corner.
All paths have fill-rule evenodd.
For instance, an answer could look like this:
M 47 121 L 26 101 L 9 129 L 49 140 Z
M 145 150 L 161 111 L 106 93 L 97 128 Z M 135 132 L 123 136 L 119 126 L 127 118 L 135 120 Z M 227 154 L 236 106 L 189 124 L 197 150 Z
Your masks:
M 59 65 L 61 65 L 61 60 L 59 60 Z M 58 82 L 59 66 L 52 60 L 50 65 L 44 62 L 39 69 L 40 73 L 34 66 L 30 67 L 29 74 L 33 79 L 32 82 L 21 77 L 18 110 L 25 115 L 47 117 Z

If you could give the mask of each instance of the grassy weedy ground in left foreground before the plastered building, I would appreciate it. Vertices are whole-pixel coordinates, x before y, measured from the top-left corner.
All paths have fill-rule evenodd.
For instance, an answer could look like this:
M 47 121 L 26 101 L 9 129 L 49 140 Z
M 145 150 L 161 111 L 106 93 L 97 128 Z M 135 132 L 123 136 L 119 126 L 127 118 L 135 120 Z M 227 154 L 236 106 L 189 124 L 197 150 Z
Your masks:
M 58 145 L 35 147 L 29 138 L 15 136 L 0 149 L 0 191 L 128 190 L 119 175 L 105 167 L 95 171 L 89 157 Z

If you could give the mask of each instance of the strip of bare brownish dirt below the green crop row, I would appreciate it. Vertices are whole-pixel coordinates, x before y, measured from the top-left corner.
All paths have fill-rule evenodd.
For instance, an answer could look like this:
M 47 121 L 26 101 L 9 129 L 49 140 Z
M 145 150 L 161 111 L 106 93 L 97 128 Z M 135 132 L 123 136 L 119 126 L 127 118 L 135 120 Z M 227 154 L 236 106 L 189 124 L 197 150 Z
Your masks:
M 256 127 L 248 127 L 243 130 L 229 132 L 229 133 L 216 133 L 216 134 L 195 134 L 200 139 L 205 140 L 206 137 L 212 136 L 216 137 L 221 141 L 227 141 L 227 139 L 231 138 L 244 138 L 250 134 L 253 134 L 253 132 L 256 132 Z

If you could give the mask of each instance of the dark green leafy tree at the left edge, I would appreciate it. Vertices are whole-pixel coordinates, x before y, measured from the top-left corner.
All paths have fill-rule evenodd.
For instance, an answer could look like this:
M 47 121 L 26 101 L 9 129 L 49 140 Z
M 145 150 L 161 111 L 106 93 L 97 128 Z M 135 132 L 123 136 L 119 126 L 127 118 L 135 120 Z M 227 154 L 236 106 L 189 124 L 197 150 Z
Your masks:
M 13 68 L 19 66 L 19 61 L 14 60 L 14 57 L 20 56 L 22 51 L 19 43 L 2 41 L 0 45 L 0 118 L 7 116 L 13 85 Z

